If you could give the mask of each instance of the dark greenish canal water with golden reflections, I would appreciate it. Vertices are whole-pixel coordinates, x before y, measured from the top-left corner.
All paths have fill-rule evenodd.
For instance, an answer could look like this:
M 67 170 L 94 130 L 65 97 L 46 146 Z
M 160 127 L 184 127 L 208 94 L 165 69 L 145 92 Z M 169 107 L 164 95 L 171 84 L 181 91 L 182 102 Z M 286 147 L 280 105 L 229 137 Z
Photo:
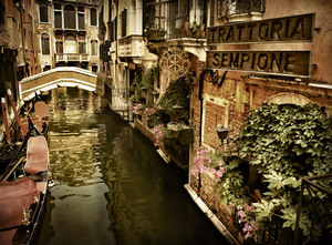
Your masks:
M 44 244 L 227 244 L 184 188 L 183 172 L 100 96 L 59 88 L 50 109 Z

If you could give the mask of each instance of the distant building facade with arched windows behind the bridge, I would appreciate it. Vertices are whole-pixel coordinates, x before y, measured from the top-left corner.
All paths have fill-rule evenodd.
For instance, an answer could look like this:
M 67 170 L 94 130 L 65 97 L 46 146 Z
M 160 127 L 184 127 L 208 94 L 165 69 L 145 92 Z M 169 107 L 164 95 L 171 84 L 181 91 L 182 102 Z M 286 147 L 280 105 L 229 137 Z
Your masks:
M 35 1 L 39 68 L 77 67 L 98 72 L 97 0 Z

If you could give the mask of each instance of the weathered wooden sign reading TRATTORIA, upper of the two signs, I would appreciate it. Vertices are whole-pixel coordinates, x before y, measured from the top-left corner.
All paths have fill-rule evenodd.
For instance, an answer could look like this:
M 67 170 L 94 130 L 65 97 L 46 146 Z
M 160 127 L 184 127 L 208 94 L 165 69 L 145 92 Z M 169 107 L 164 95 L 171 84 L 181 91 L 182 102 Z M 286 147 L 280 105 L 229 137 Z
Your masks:
M 314 13 L 209 27 L 207 44 L 312 41 Z

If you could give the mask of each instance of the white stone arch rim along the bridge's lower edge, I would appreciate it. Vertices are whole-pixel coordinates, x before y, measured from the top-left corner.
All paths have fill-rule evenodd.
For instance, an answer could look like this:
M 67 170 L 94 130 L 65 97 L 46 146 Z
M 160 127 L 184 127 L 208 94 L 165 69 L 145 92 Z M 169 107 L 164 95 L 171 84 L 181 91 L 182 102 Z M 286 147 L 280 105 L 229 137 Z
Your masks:
M 50 82 L 48 84 L 43 84 L 42 86 L 37 86 L 37 88 L 33 88 L 33 89 L 22 92 L 22 100 L 30 101 L 35 96 L 35 94 L 40 94 L 41 92 L 54 90 L 60 86 L 79 88 L 82 90 L 87 90 L 87 91 L 93 91 L 93 92 L 96 90 L 96 86 L 92 86 L 91 84 L 89 84 L 84 81 L 73 80 L 73 79 L 61 79 L 61 80 Z

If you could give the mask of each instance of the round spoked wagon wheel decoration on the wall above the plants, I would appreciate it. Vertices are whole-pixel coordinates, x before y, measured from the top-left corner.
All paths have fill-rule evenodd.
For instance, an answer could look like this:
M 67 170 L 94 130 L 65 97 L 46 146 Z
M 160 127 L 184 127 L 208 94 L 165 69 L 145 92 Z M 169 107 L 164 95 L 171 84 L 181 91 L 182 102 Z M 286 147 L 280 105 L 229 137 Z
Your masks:
M 172 80 L 186 75 L 190 67 L 188 54 L 177 48 L 166 49 L 162 54 L 159 63 L 162 71 Z

